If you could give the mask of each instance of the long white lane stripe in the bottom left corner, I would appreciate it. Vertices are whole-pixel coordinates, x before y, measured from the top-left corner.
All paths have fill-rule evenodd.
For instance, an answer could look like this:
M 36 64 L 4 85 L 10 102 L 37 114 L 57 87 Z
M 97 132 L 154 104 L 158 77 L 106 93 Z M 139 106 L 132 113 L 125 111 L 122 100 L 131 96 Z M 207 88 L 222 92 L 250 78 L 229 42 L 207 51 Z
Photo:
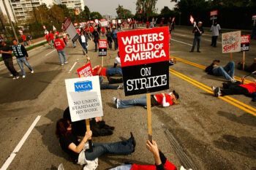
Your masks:
M 23 146 L 23 144 L 26 142 L 26 139 L 28 139 L 29 134 L 31 134 L 31 131 L 34 129 L 34 126 L 37 125 L 38 121 L 40 120 L 41 116 L 37 116 L 37 118 L 34 120 L 34 122 L 29 127 L 28 131 L 26 131 L 26 134 L 24 134 L 23 138 L 20 140 L 18 145 L 15 147 L 15 149 L 12 151 L 9 158 L 7 158 L 7 161 L 4 162 L 4 165 L 1 166 L 1 170 L 6 170 L 10 164 L 12 163 L 13 159 L 17 155 L 20 148 Z

